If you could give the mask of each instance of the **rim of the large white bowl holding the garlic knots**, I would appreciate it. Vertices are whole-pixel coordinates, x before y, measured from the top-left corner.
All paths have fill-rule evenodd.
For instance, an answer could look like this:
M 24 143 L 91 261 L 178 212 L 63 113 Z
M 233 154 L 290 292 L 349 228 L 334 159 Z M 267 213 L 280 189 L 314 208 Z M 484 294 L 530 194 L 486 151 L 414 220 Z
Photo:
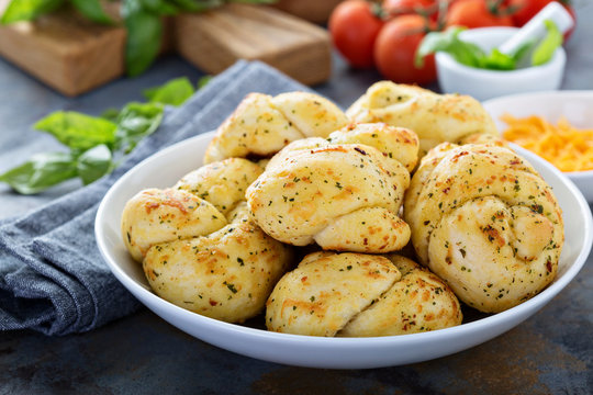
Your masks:
M 593 245 L 593 218 L 591 216 L 591 210 L 584 196 L 579 191 L 579 189 L 574 185 L 574 183 L 571 180 L 563 177 L 562 172 L 560 172 L 553 166 L 542 160 L 541 158 L 535 156 L 535 154 L 529 153 L 525 150 L 524 148 L 519 147 L 521 148 L 519 154 L 522 156 L 527 156 L 528 160 L 532 160 L 532 157 L 535 157 L 536 160 L 541 161 L 541 166 L 548 167 L 551 172 L 556 173 L 557 178 L 559 179 L 559 182 L 563 183 L 564 187 L 573 195 L 573 198 L 577 199 L 580 211 L 583 213 L 589 213 L 589 216 L 585 218 L 584 226 L 583 226 L 583 241 L 584 241 L 583 248 L 581 249 L 581 251 L 579 251 L 579 255 L 575 257 L 570 268 L 568 268 L 568 270 L 560 278 L 557 278 L 553 283 L 549 284 L 539 294 L 532 297 L 530 300 L 515 307 L 512 307 L 507 311 L 504 311 L 497 314 L 492 314 L 488 317 L 480 318 L 471 323 L 461 324 L 459 326 L 455 326 L 450 328 L 427 331 L 427 332 L 418 332 L 418 334 L 383 336 L 383 337 L 366 337 L 366 338 L 315 337 L 315 336 L 304 336 L 304 335 L 280 334 L 280 332 L 273 332 L 273 331 L 264 330 L 264 329 L 250 328 L 250 327 L 242 326 L 239 324 L 230 324 L 230 323 L 225 323 L 225 321 L 217 320 L 214 318 L 205 317 L 197 313 L 187 311 L 182 307 L 179 307 L 170 302 L 165 301 L 164 298 L 157 296 L 155 293 L 149 291 L 147 287 L 145 287 L 141 283 L 137 283 L 132 276 L 128 276 L 124 272 L 122 267 L 120 267 L 120 264 L 114 259 L 114 257 L 112 257 L 110 253 L 110 250 L 107 244 L 107 237 L 103 237 L 105 235 L 103 223 L 107 224 L 105 218 L 107 218 L 107 213 L 111 208 L 110 203 L 118 196 L 123 185 L 126 184 L 127 180 L 133 178 L 136 172 L 142 170 L 147 161 L 158 160 L 160 157 L 167 156 L 171 151 L 179 149 L 181 145 L 199 144 L 199 142 L 203 139 L 212 138 L 213 135 L 214 135 L 214 132 L 204 133 L 204 134 L 191 137 L 189 139 L 179 142 L 167 148 L 164 148 L 163 150 L 144 159 L 143 161 L 134 166 L 132 169 L 130 169 L 125 174 L 123 174 L 109 189 L 109 191 L 105 193 L 105 195 L 103 196 L 99 205 L 97 216 L 96 216 L 96 223 L 94 223 L 94 235 L 96 235 L 97 245 L 99 247 L 101 256 L 103 257 L 108 267 L 110 268 L 112 273 L 115 275 L 115 278 L 118 278 L 118 280 L 130 292 L 132 292 L 132 294 L 142 295 L 142 297 L 148 298 L 152 303 L 156 303 L 159 306 L 168 309 L 169 312 L 175 313 L 176 316 L 181 315 L 187 319 L 197 320 L 198 323 L 200 323 L 201 326 L 209 327 L 209 329 L 217 330 L 219 332 L 222 332 L 222 334 L 233 332 L 242 338 L 246 338 L 246 337 L 247 338 L 266 338 L 267 341 L 282 342 L 284 345 L 286 343 L 299 345 L 299 343 L 306 342 L 307 346 L 315 346 L 320 348 L 334 348 L 336 346 L 339 346 L 339 347 L 345 347 L 349 350 L 357 350 L 357 349 L 363 349 L 363 348 L 366 349 L 368 347 L 378 347 L 378 346 L 387 347 L 387 346 L 395 346 L 395 345 L 402 345 L 402 343 L 405 343 L 406 346 L 414 346 L 414 345 L 421 345 L 424 341 L 429 341 L 429 340 L 447 340 L 447 339 L 459 338 L 460 336 L 463 336 L 466 334 L 473 334 L 474 331 L 488 330 L 488 328 L 494 324 L 513 321 L 513 317 L 517 315 L 522 317 L 521 320 L 527 319 L 529 316 L 536 313 L 539 308 L 541 308 L 545 304 L 551 301 L 553 296 L 556 296 L 563 287 L 567 286 L 567 284 L 570 281 L 572 281 L 572 279 L 579 273 L 579 271 L 584 266 L 586 258 L 590 253 L 591 246 Z M 145 303 L 141 297 L 138 297 L 138 300 L 144 305 L 147 305 L 147 303 Z M 152 306 L 147 305 L 147 307 L 153 309 Z M 165 319 L 160 314 L 157 314 L 157 315 L 160 316 L 161 319 Z M 513 327 L 515 325 L 513 325 Z M 471 347 L 471 345 L 468 347 Z

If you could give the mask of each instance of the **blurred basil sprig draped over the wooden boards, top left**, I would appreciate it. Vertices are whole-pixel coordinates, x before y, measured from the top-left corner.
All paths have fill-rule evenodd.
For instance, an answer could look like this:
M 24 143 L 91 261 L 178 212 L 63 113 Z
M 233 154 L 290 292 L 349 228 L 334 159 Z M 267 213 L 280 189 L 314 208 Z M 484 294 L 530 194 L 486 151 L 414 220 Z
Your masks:
M 120 13 L 127 30 L 125 64 L 133 77 L 146 70 L 157 57 L 163 41 L 163 18 L 184 12 L 202 12 L 230 2 L 273 3 L 277 0 L 122 0 Z M 1 24 L 34 21 L 63 7 L 71 7 L 92 22 L 116 24 L 103 10 L 101 0 L 12 0 Z

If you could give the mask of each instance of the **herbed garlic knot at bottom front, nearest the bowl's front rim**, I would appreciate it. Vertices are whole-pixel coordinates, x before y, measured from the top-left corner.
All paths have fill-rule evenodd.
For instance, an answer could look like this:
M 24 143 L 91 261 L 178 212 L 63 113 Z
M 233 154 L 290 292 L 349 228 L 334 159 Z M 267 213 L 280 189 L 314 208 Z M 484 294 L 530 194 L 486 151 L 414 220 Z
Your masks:
M 269 330 L 310 336 L 404 335 L 462 320 L 443 280 L 396 255 L 311 253 L 282 276 L 266 305 Z

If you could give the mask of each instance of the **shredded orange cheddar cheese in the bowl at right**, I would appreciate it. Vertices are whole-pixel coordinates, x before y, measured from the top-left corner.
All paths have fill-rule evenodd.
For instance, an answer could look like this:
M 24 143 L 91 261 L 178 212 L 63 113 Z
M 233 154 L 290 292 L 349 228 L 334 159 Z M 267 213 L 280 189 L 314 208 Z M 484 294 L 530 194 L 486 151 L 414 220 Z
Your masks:
M 562 171 L 593 170 L 593 128 L 578 129 L 566 119 L 553 125 L 532 115 L 516 119 L 505 114 L 508 124 L 503 137 L 539 155 Z

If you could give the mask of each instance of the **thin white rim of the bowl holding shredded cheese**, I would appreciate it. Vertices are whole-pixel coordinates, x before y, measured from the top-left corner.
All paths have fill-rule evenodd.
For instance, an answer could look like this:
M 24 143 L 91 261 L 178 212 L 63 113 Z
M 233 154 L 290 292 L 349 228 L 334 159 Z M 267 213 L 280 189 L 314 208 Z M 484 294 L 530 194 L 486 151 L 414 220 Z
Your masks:
M 537 100 L 546 100 L 546 101 L 548 101 L 548 100 L 556 100 L 556 99 L 561 99 L 561 98 L 569 98 L 569 97 L 572 98 L 572 99 L 575 99 L 575 100 L 585 99 L 585 100 L 591 100 L 593 102 L 593 90 L 586 90 L 586 89 L 582 89 L 582 90 L 556 90 L 556 91 L 555 90 L 546 90 L 546 91 L 538 91 L 538 92 L 512 93 L 512 94 L 505 94 L 505 95 L 502 95 L 502 97 L 496 97 L 496 98 L 484 100 L 484 101 L 482 101 L 482 106 L 484 106 L 484 109 L 488 109 L 491 105 L 501 105 L 501 103 L 503 103 L 505 101 L 514 101 L 514 100 L 529 102 L 533 99 L 537 99 Z M 593 126 L 591 128 L 593 129 Z M 500 132 L 500 133 L 502 134 L 502 132 Z M 516 145 L 516 144 L 513 144 L 513 145 L 516 146 L 516 147 L 519 147 L 522 149 L 525 149 L 525 148 L 521 147 L 519 145 Z M 535 153 L 532 153 L 532 154 L 537 155 Z M 540 159 L 546 160 L 544 158 L 540 158 Z M 573 179 L 573 180 L 577 180 L 577 181 L 584 181 L 584 180 L 588 180 L 590 178 L 593 178 L 593 170 L 581 170 L 581 171 L 561 171 L 561 170 L 559 170 L 559 171 L 562 174 L 564 174 L 566 177 L 568 177 L 570 179 Z

